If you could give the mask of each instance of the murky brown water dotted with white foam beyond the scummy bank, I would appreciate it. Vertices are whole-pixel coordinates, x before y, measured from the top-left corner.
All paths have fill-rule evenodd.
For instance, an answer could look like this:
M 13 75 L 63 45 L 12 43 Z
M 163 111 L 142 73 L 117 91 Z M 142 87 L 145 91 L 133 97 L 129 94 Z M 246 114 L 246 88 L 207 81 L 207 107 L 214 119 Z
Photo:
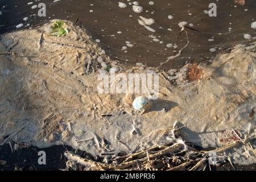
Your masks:
M 40 2 L 46 3 L 46 17 L 38 16 L 38 8 L 31 9 Z M 118 2 L 127 7 L 119 7 Z M 217 5 L 216 17 L 205 13 L 212 2 Z M 255 36 L 256 29 L 251 28 L 256 19 L 255 0 L 246 0 L 245 5 L 233 0 L 141 0 L 138 3 L 143 7 L 142 13 L 135 13 L 126 0 L 0 0 L 0 31 L 2 34 L 16 30 L 20 23 L 23 26 L 18 29 L 49 19 L 68 19 L 86 28 L 112 59 L 154 67 L 177 55 L 189 40 L 180 56 L 162 65 L 166 69 L 179 68 L 186 62 L 208 63 L 225 48 L 249 41 L 244 34 Z M 139 16 L 154 19 L 150 27 L 155 32 L 139 24 Z M 180 22 L 188 24 L 179 36 Z

